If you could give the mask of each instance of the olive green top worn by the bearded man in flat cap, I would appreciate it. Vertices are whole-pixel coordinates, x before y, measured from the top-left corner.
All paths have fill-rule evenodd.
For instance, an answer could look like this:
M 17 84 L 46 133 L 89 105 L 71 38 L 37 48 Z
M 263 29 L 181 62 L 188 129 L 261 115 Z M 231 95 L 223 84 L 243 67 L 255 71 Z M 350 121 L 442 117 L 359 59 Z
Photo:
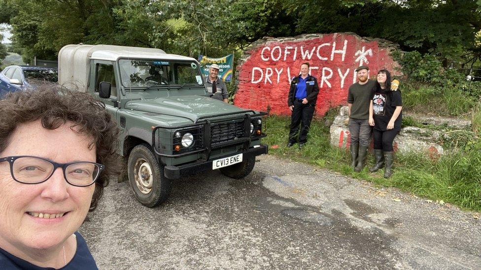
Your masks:
M 375 80 L 368 80 L 360 85 L 355 83 L 349 87 L 347 92 L 347 103 L 351 103 L 351 115 L 349 118 L 366 120 L 369 119 L 369 104 L 376 87 Z

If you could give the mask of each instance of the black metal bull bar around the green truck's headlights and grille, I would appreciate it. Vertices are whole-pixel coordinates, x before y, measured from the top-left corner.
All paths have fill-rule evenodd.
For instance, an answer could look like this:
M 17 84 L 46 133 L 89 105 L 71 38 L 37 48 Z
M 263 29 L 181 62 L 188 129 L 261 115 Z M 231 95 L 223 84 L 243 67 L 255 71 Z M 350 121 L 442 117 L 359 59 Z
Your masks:
M 252 113 L 252 115 L 249 114 L 249 113 Z M 223 117 L 223 116 L 231 116 L 231 115 L 239 115 L 239 116 L 234 117 L 234 118 L 229 118 L 228 119 L 229 121 L 230 120 L 237 120 L 237 119 L 244 119 L 243 120 L 243 128 L 244 128 L 243 137 L 238 138 L 238 139 L 233 140 L 233 141 L 219 143 L 219 144 L 216 144 L 215 146 L 212 146 L 211 145 L 211 119 Z M 251 118 L 252 117 L 265 116 L 265 115 L 267 115 L 266 112 L 256 113 L 253 110 L 245 110 L 245 111 L 241 111 L 241 112 L 225 113 L 225 114 L 220 114 L 220 115 L 215 115 L 215 116 L 200 117 L 200 118 L 196 119 L 193 124 L 186 124 L 186 125 L 175 126 L 175 127 L 158 125 L 158 126 L 156 126 L 152 129 L 152 149 L 159 156 L 173 157 L 173 158 L 182 157 L 182 156 L 191 155 L 191 154 L 200 153 L 200 152 L 205 152 L 206 160 L 209 159 L 210 152 L 212 150 L 218 149 L 218 148 L 223 148 L 223 147 L 227 147 L 227 146 L 231 146 L 231 145 L 243 144 L 243 147 L 242 147 L 243 150 L 247 150 L 249 148 L 250 142 L 252 140 L 252 134 L 250 133 Z M 157 150 L 155 133 L 158 129 L 162 128 L 162 129 L 172 130 L 172 129 L 195 128 L 195 127 L 201 127 L 201 126 L 203 127 L 203 140 L 202 140 L 203 148 L 202 149 L 188 151 L 188 152 L 184 152 L 184 153 L 178 153 L 178 154 L 166 154 L 166 153 L 159 152 Z M 171 134 L 172 134 L 172 132 L 171 132 Z M 260 139 L 260 138 L 263 138 L 263 137 L 266 137 L 266 134 L 261 134 L 261 135 L 255 136 L 254 138 Z M 159 141 L 159 145 L 160 144 L 161 144 L 161 142 Z

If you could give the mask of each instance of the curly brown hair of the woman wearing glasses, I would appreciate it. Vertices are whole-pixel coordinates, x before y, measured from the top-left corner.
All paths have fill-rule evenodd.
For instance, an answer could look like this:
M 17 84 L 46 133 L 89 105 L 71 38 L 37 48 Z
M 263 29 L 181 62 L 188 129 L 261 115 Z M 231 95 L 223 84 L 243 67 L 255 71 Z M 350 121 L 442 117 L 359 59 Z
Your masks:
M 46 129 L 56 129 L 66 122 L 70 128 L 92 138 L 89 147 L 96 147 L 97 162 L 105 169 L 95 182 L 89 211 L 95 210 L 108 179 L 118 176 L 121 161 L 117 154 L 119 129 L 105 105 L 90 94 L 43 85 L 36 90 L 10 92 L 0 100 L 0 153 L 10 143 L 15 128 L 40 120 Z

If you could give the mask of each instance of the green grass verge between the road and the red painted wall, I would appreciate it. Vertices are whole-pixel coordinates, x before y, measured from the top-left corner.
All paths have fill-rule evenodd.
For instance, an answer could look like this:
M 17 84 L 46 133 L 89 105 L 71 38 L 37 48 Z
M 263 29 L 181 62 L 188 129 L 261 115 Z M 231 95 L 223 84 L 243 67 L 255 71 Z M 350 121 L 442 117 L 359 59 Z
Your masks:
M 397 187 L 431 200 L 443 200 L 466 210 L 481 211 L 481 149 L 453 150 L 437 160 L 418 153 L 396 154 L 394 174 L 390 179 L 382 177 L 383 171 L 369 173 L 373 165 L 372 154 L 361 173 L 354 173 L 349 166 L 350 156 L 345 149 L 332 147 L 329 127 L 324 120 L 313 120 L 309 141 L 303 150 L 298 145 L 287 148 L 289 117 L 270 116 L 265 121 L 268 136 L 263 140 L 269 153 L 321 168 L 339 172 L 355 179 L 368 180 L 378 185 Z

